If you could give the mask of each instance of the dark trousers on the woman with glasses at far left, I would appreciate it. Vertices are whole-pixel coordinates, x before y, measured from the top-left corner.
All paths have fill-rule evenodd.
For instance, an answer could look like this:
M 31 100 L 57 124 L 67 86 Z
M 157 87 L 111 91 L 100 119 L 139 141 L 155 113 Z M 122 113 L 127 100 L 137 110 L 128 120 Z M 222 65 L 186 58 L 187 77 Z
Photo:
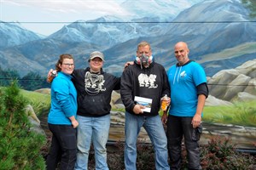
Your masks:
M 71 125 L 49 124 L 52 133 L 49 155 L 47 156 L 47 170 L 55 170 L 61 159 L 61 170 L 74 169 L 77 159 L 77 134 Z

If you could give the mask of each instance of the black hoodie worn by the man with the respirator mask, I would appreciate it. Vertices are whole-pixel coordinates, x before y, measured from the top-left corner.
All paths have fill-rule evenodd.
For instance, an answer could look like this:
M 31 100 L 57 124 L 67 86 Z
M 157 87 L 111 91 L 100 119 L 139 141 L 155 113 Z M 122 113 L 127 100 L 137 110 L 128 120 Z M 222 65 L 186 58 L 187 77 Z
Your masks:
M 152 100 L 151 111 L 138 116 L 156 116 L 160 110 L 160 99 L 165 94 L 170 97 L 170 86 L 165 68 L 158 63 L 151 63 L 148 68 L 141 69 L 141 65 L 129 65 L 122 74 L 121 99 L 125 110 L 135 114 L 132 110 L 136 105 L 135 96 Z

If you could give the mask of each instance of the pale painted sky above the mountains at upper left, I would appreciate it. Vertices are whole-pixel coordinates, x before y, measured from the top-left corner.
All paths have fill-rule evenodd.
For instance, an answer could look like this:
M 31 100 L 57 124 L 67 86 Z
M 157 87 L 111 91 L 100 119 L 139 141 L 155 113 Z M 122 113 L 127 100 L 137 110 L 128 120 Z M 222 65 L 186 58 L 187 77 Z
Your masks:
M 0 0 L 0 20 L 20 22 L 28 30 L 48 36 L 76 20 L 103 15 L 129 15 L 125 0 Z

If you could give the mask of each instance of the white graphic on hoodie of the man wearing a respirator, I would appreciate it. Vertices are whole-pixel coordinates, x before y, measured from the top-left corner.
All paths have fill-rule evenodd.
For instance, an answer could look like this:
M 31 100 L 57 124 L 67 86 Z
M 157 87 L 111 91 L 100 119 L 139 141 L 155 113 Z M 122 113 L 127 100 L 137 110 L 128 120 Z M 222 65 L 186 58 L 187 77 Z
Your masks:
M 150 74 L 149 77 L 146 74 L 141 73 L 137 77 L 140 87 L 148 87 L 148 88 L 157 88 L 158 85 L 155 84 L 156 75 Z

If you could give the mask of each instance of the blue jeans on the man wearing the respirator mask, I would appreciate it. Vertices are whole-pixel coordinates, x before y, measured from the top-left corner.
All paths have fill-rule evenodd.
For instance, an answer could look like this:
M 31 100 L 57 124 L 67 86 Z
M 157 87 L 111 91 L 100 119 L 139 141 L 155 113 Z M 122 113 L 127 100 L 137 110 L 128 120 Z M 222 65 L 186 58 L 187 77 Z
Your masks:
M 160 116 L 136 116 L 129 112 L 125 113 L 125 170 L 137 169 L 137 136 L 141 127 L 154 146 L 155 168 L 169 170 L 166 132 Z

